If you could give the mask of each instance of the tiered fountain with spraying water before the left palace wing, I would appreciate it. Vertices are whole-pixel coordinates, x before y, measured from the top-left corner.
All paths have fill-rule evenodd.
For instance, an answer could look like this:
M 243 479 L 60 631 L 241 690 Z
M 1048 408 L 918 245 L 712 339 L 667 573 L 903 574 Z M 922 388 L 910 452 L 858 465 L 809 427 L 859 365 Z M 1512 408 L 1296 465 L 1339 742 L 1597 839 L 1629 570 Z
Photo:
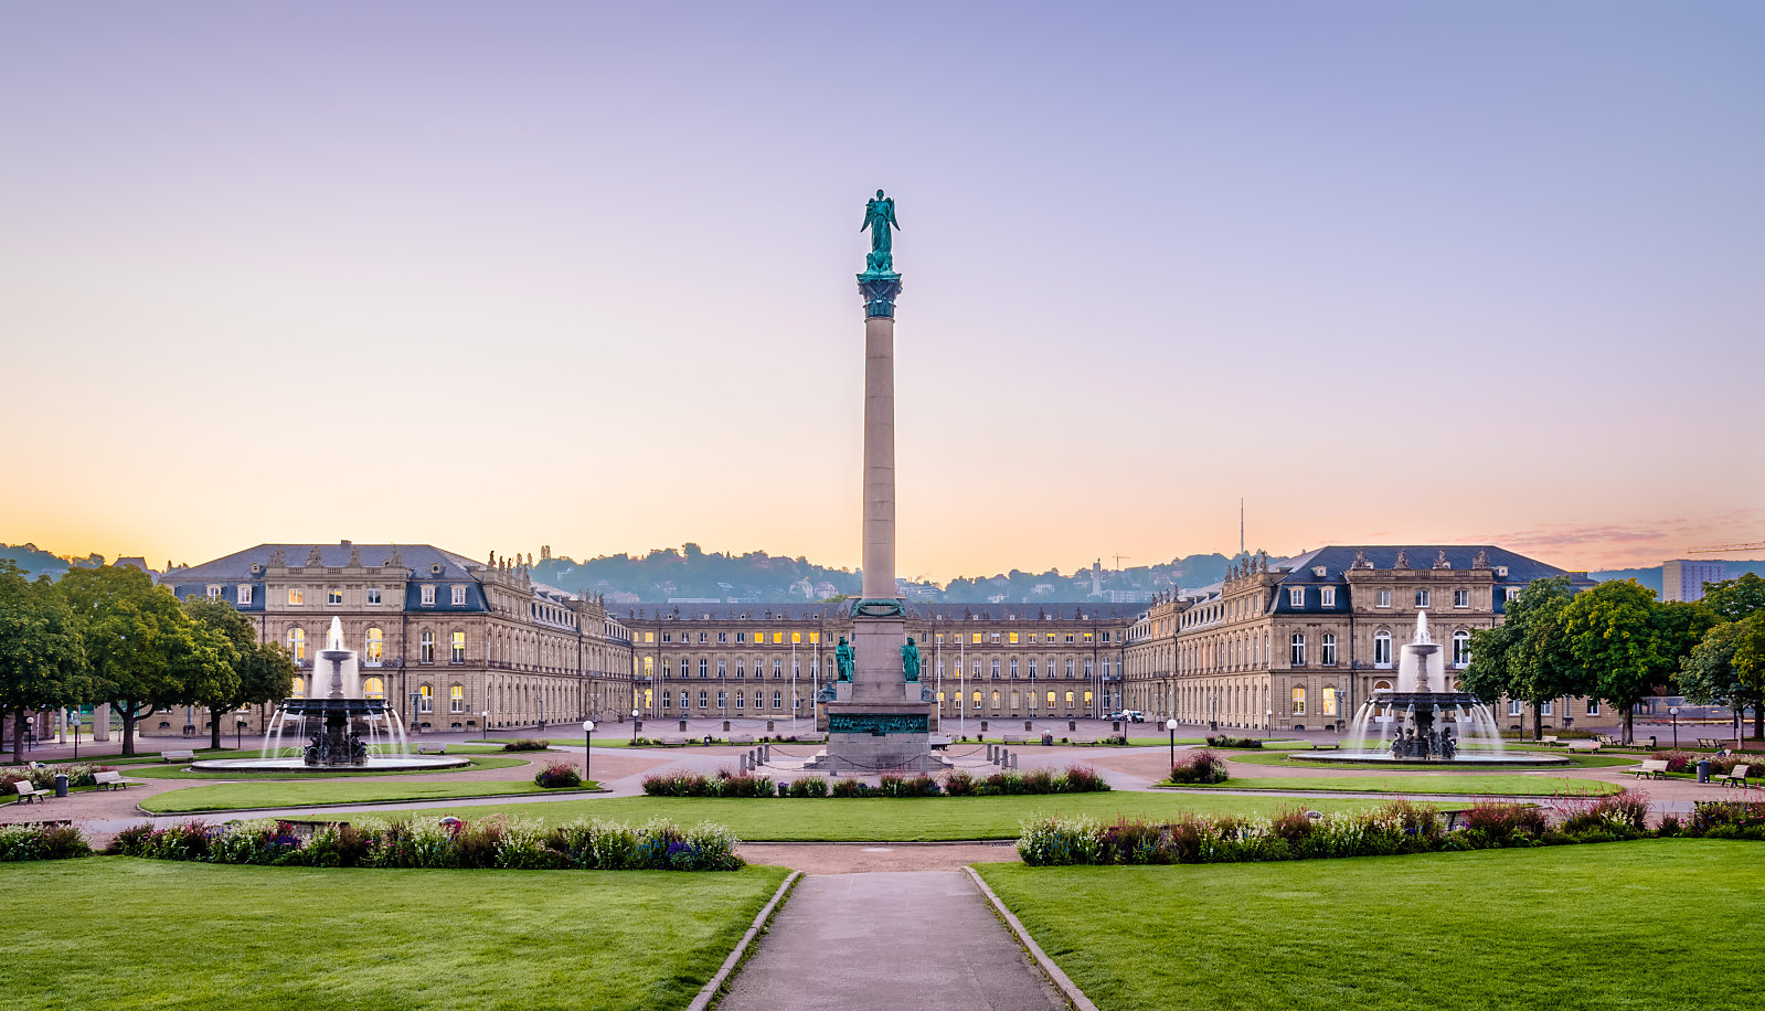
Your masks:
M 362 693 L 362 676 L 357 667 L 355 649 L 342 644 L 342 621 L 332 618 L 325 648 L 318 651 L 312 686 L 319 685 L 319 670 L 330 663 L 330 686 L 323 697 L 284 699 L 270 720 L 270 729 L 263 734 L 261 759 L 203 759 L 191 762 L 192 769 L 270 769 L 270 771 L 374 771 L 395 773 L 402 769 L 447 769 L 468 766 L 471 759 L 459 755 L 411 755 L 404 739 L 404 722 L 395 706 L 385 699 L 365 699 Z M 311 730 L 307 745 L 298 748 L 282 746 L 282 730 L 289 718 L 307 730 L 309 722 L 318 727 Z M 360 727 L 364 734 L 357 730 Z

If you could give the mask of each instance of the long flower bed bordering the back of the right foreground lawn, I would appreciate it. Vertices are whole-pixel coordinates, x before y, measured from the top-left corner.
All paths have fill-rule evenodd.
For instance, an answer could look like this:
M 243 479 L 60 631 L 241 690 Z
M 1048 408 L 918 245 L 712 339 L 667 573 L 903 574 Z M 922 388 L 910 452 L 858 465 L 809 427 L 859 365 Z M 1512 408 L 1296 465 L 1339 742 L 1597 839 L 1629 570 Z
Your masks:
M 1447 829 L 1446 815 L 1408 801 L 1359 813 L 1304 812 L 1273 819 L 1186 815 L 1172 822 L 1045 817 L 1024 824 L 1017 852 L 1031 866 L 1246 863 L 1412 852 L 1622 842 L 1652 836 L 1765 840 L 1765 803 L 1700 801 L 1689 824 L 1666 817 L 1649 829 L 1649 801 L 1634 790 L 1562 798 L 1551 824 L 1544 808 L 1484 801 Z

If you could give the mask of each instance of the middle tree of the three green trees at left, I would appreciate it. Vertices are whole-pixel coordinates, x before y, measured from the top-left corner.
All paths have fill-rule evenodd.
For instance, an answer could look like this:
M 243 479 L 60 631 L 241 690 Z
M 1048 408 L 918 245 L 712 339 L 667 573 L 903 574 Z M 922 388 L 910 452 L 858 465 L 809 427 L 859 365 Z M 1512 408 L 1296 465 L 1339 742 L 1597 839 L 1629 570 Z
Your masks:
M 122 716 L 122 753 L 134 755 L 134 725 L 154 709 L 194 704 L 231 676 L 224 637 L 198 626 L 169 589 L 138 568 L 74 568 L 56 584 L 72 609 L 94 697 Z

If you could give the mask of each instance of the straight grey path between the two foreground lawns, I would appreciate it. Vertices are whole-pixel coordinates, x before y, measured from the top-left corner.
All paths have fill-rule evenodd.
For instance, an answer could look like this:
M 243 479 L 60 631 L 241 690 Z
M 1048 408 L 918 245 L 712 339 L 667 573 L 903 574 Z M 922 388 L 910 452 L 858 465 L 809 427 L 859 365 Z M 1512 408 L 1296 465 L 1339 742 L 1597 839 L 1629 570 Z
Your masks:
M 960 870 L 805 877 L 718 1011 L 1066 1007 Z

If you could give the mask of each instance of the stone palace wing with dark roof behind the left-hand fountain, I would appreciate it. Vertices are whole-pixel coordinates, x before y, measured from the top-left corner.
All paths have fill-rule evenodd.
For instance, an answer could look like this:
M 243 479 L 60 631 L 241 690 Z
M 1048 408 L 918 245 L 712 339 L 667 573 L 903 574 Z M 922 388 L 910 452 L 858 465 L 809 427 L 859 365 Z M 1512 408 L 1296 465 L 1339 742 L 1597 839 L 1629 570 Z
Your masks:
M 178 598 L 219 598 L 281 642 L 311 690 L 332 618 L 358 655 L 365 695 L 399 700 L 406 727 L 482 730 L 625 713 L 632 637 L 598 596 L 533 582 L 526 566 L 431 545 L 259 543 L 166 572 Z M 267 713 L 258 715 L 258 729 Z M 207 732 L 184 708 L 141 722 L 146 734 Z

